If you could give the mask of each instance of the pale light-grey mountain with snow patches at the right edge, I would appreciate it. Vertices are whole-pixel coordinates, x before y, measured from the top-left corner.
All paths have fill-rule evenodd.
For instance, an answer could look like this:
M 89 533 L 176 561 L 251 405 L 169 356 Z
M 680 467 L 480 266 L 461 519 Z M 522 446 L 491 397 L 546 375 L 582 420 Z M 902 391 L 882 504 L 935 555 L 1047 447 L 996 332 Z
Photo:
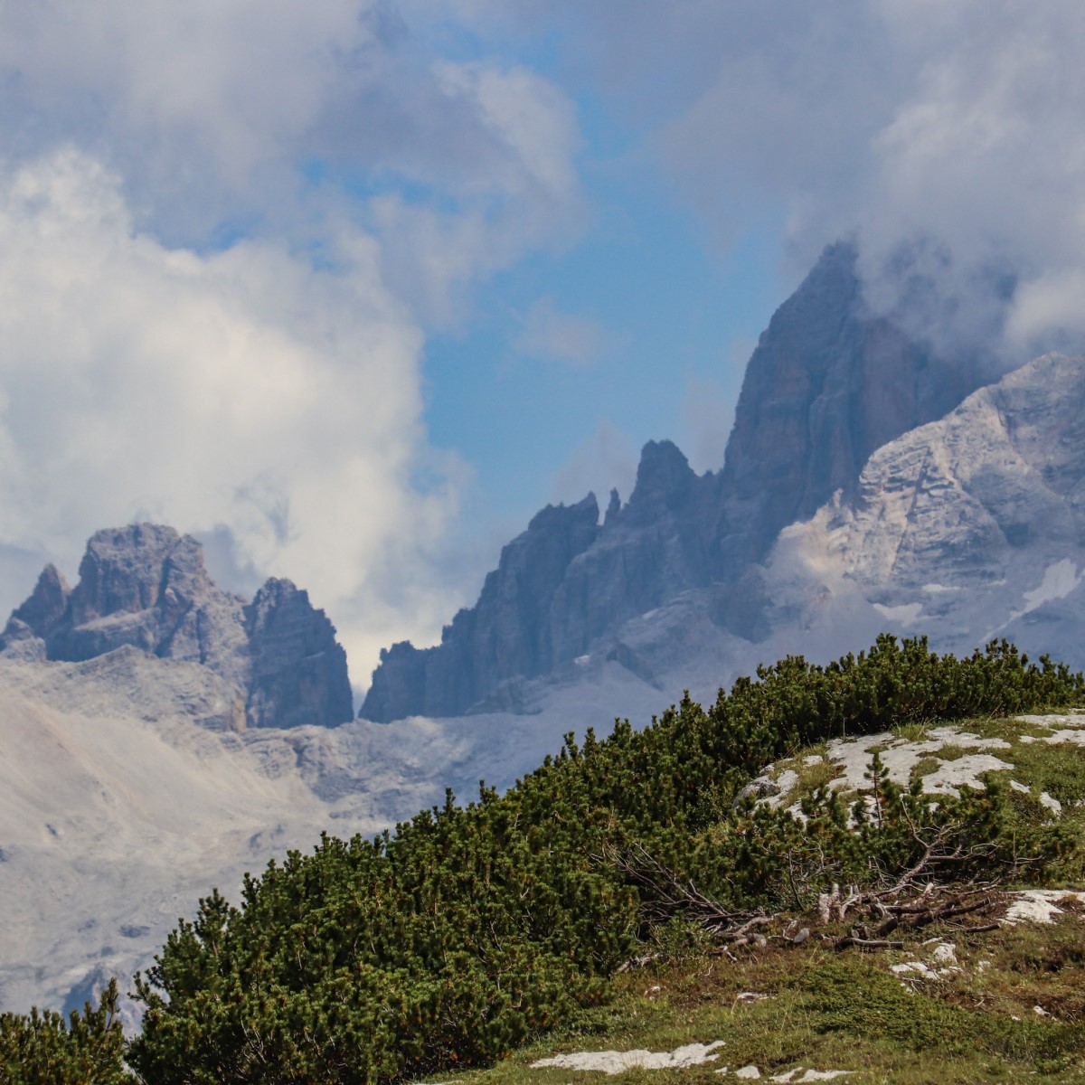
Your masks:
M 945 649 L 997 636 L 1085 664 L 1085 359 L 1036 358 L 883 446 L 774 562 Z

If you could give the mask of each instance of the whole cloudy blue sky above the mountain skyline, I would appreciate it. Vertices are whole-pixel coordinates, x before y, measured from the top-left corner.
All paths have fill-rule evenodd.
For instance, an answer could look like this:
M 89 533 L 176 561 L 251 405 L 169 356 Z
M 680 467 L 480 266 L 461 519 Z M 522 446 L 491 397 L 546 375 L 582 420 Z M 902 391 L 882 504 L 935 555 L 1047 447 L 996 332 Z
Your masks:
M 1076 0 L 0 0 L 0 608 L 167 522 L 363 688 L 541 505 L 720 467 L 826 243 L 885 314 L 908 254 L 944 350 L 1080 335 L 1083 47 Z

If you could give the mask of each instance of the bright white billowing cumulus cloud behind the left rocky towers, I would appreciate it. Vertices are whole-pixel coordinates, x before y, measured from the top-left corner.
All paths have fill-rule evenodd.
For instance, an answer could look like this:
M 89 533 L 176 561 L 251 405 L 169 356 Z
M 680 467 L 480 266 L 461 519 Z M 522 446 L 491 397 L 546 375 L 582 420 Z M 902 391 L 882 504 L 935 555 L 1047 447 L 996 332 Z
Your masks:
M 201 256 L 136 229 L 75 150 L 4 170 L 0 542 L 72 571 L 103 525 L 225 527 L 237 564 L 330 612 L 356 681 L 393 629 L 432 636 L 462 468 L 425 446 L 422 336 L 378 255 L 355 233 L 334 271 L 270 242 Z

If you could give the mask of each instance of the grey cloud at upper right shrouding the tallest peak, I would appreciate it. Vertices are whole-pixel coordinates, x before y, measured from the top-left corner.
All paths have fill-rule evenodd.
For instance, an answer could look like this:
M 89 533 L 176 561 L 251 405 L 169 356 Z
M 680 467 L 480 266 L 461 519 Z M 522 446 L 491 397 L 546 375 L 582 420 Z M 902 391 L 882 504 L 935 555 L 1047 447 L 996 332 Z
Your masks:
M 952 350 L 1021 361 L 1078 328 L 1052 288 L 1085 269 L 1078 0 L 528 7 L 575 28 L 718 244 L 782 209 L 800 270 L 858 234 L 872 303 L 926 286 L 917 330 Z

